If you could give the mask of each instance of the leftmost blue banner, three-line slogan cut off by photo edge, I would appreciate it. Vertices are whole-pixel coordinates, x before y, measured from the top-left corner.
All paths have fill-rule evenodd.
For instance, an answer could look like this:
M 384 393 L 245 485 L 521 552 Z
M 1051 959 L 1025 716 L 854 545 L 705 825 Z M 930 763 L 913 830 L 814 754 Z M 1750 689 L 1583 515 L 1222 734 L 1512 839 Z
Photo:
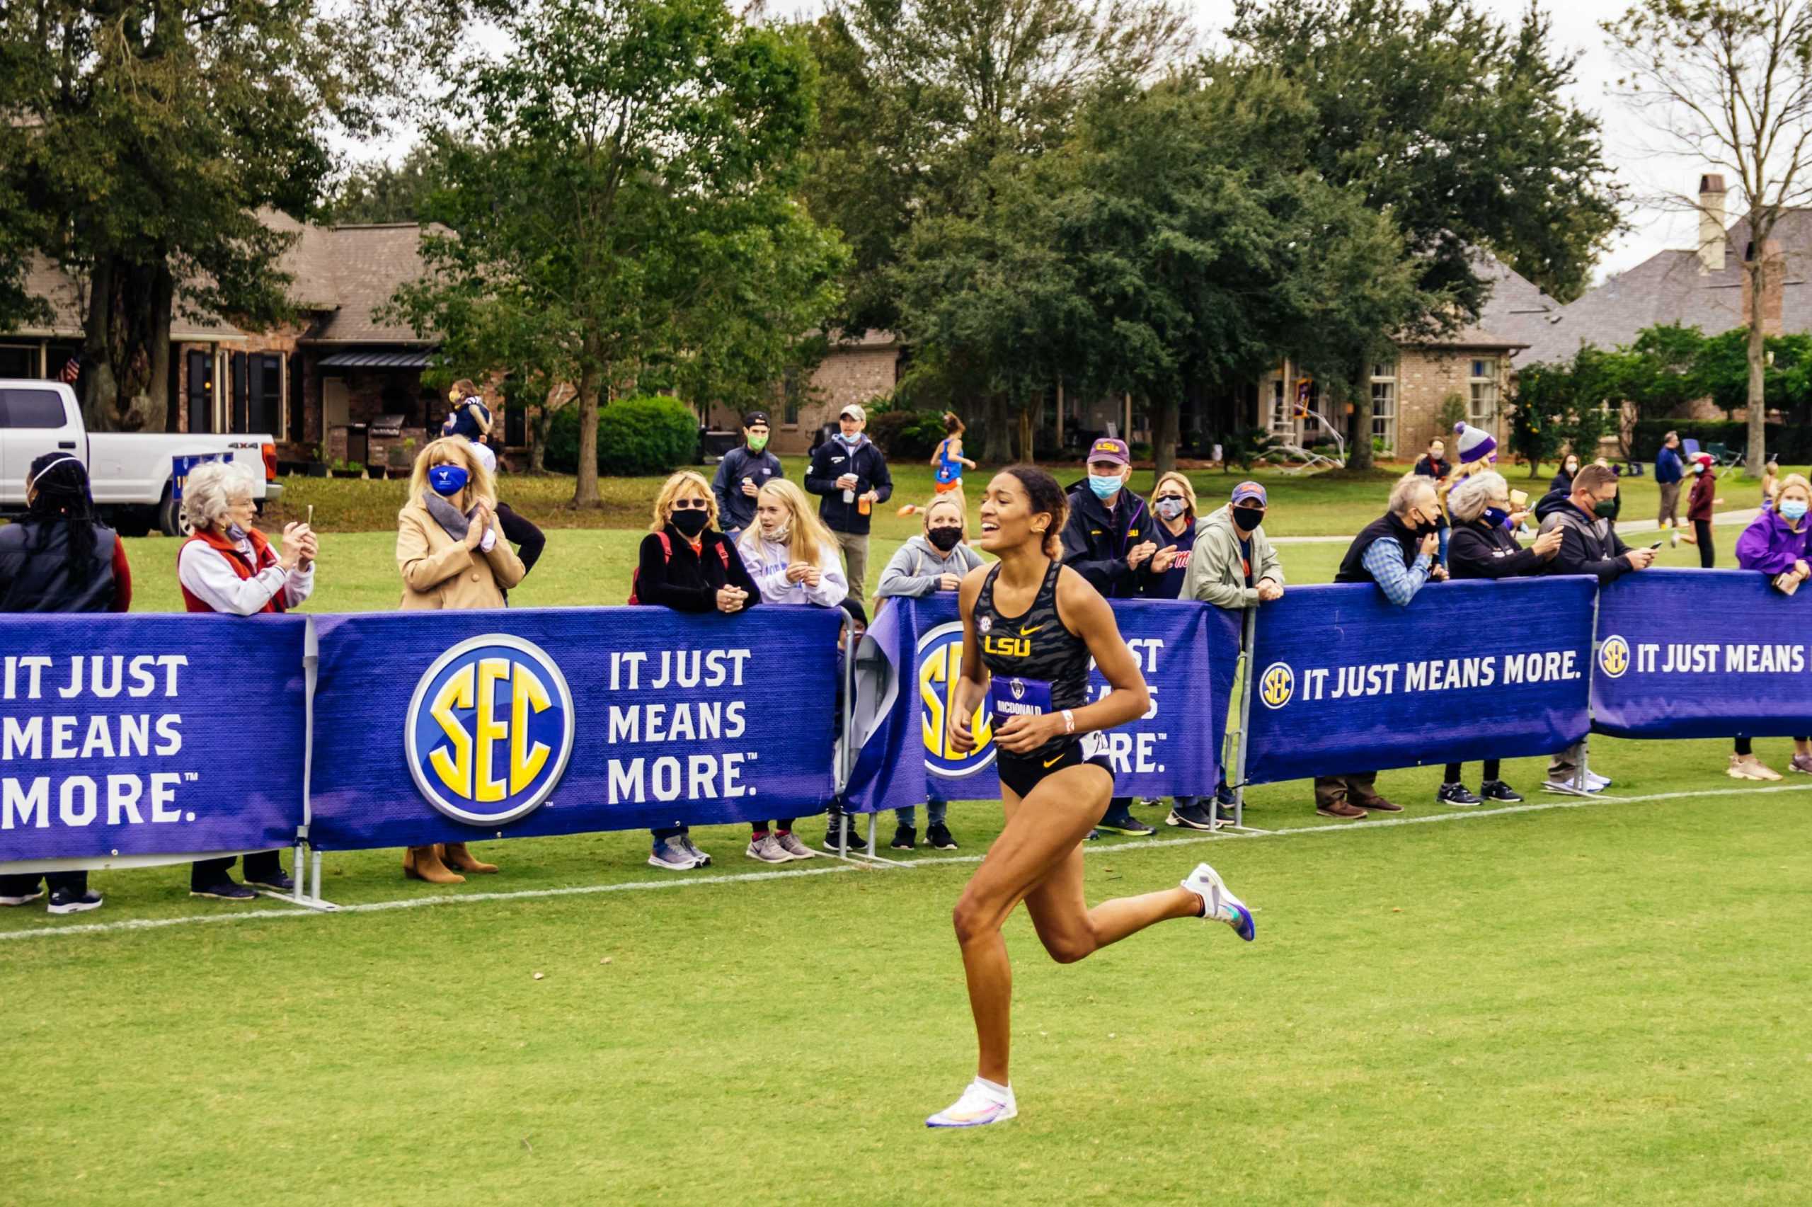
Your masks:
M 306 632 L 301 616 L 0 616 L 0 863 L 294 843 Z

